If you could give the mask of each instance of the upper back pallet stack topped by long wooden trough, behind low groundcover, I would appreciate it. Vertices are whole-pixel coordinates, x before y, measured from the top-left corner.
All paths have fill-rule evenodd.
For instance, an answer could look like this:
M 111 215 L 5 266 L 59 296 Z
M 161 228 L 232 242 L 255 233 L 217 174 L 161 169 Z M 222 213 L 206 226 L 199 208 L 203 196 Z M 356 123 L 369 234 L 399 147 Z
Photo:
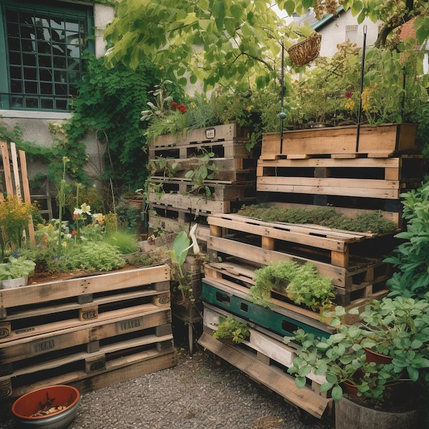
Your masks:
M 333 206 L 353 215 L 381 210 L 401 225 L 400 194 L 419 186 L 426 162 L 409 124 L 328 127 L 262 137 L 257 189 L 269 202 Z M 272 193 L 272 194 L 271 194 Z M 275 195 L 275 197 L 272 197 Z

